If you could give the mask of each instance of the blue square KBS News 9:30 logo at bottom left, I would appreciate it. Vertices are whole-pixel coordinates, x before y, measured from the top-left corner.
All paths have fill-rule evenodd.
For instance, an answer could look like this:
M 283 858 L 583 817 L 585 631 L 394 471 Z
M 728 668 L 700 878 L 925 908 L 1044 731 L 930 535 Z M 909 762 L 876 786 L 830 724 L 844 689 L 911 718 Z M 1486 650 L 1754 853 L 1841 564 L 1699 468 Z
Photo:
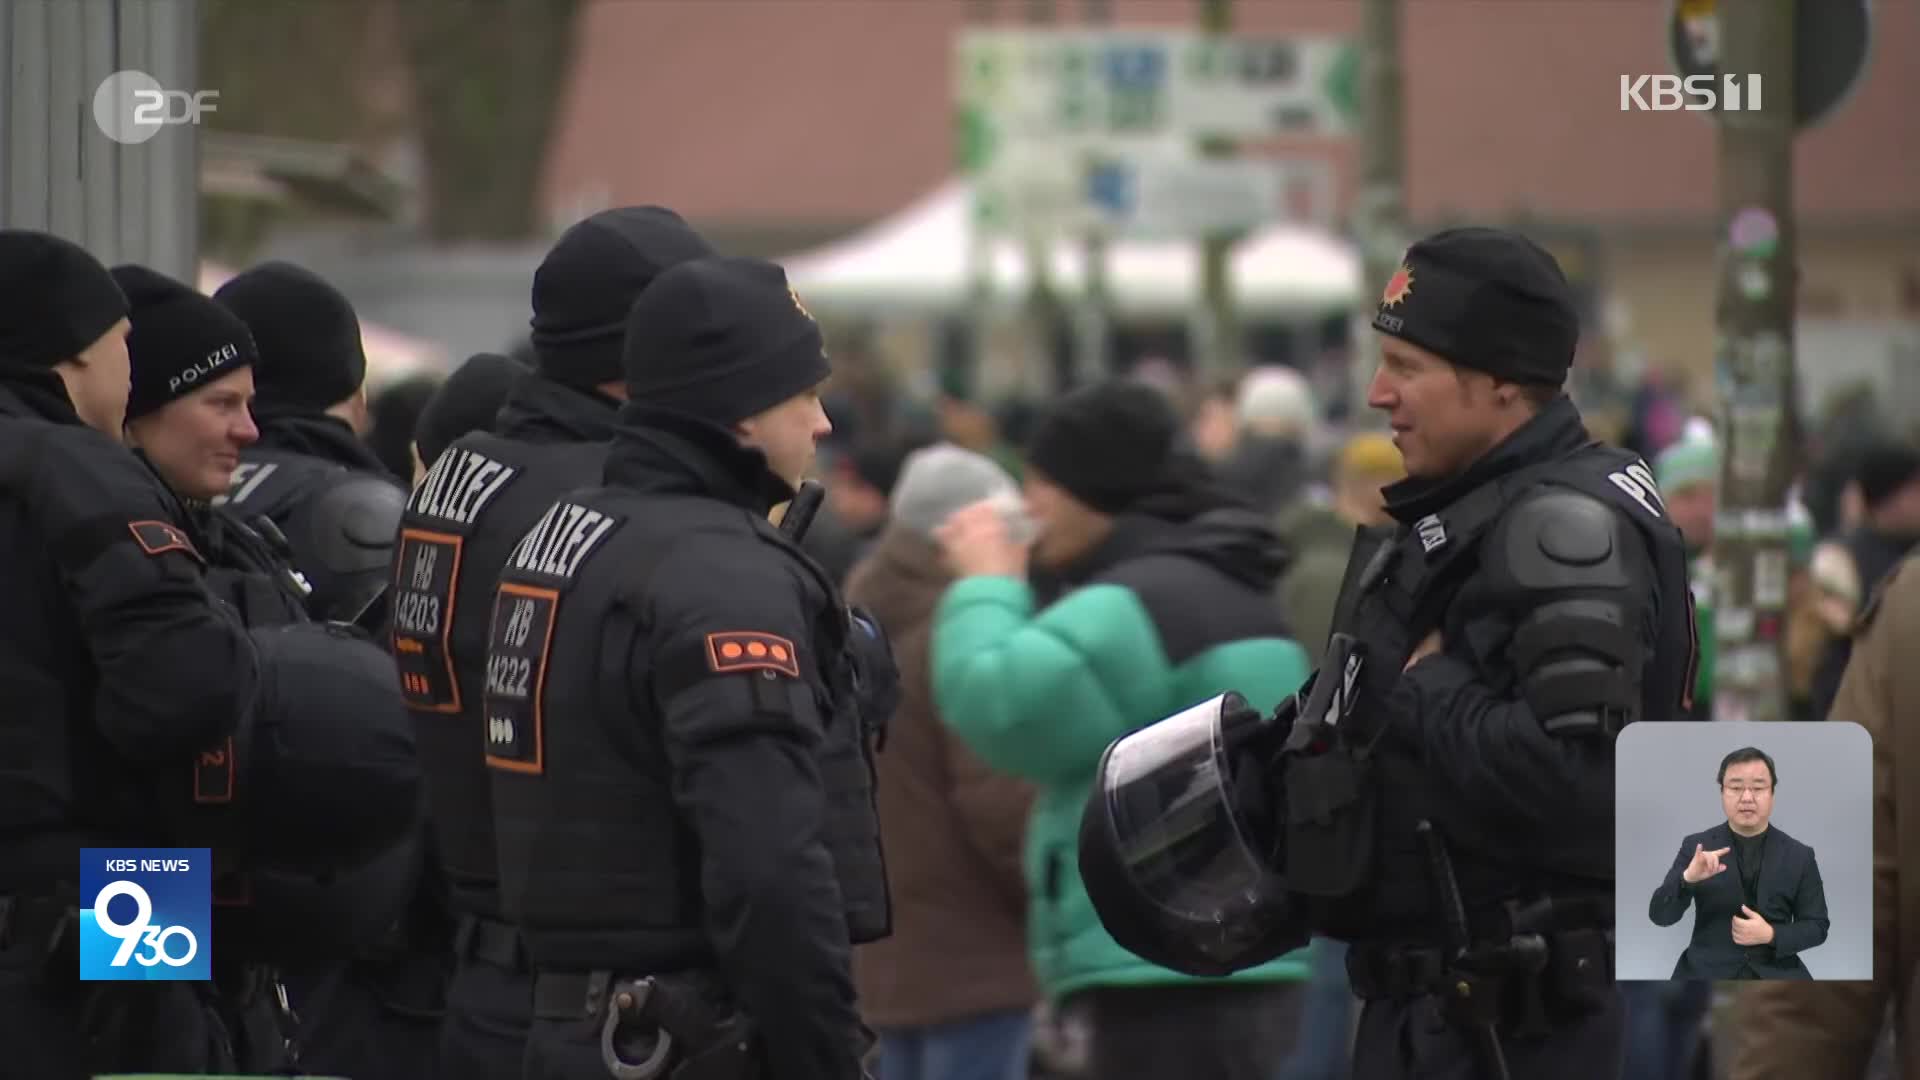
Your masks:
M 81 980 L 213 978 L 205 847 L 83 847 L 81 903 Z

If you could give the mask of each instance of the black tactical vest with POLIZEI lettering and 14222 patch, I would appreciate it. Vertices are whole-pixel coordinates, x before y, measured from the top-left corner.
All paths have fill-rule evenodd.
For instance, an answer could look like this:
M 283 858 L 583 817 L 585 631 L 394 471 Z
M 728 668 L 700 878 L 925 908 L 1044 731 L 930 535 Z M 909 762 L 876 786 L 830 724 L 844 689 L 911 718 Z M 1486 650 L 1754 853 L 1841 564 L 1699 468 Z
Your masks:
M 643 673 L 641 590 L 682 530 L 733 527 L 739 507 L 622 488 L 576 492 L 501 571 L 486 673 L 488 765 L 505 915 L 545 970 L 674 970 L 710 963 L 699 846 L 672 801 L 664 732 Z M 801 673 L 828 719 L 816 746 L 826 844 L 854 942 L 891 930 L 872 749 L 851 709 L 849 621 L 826 575 L 764 519 L 768 557 L 812 582 L 814 655 Z M 564 717 L 564 721 L 563 721 Z

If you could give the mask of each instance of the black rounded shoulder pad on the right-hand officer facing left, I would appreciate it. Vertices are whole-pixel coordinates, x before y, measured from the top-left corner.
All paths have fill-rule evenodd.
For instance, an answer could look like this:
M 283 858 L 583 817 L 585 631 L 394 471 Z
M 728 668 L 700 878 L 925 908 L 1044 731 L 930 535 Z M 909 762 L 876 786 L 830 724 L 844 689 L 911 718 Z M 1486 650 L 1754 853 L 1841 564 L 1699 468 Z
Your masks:
M 1620 588 L 1628 584 L 1620 552 L 1630 540 L 1626 528 L 1605 502 L 1544 486 L 1501 515 L 1482 561 L 1503 567 L 1521 588 Z

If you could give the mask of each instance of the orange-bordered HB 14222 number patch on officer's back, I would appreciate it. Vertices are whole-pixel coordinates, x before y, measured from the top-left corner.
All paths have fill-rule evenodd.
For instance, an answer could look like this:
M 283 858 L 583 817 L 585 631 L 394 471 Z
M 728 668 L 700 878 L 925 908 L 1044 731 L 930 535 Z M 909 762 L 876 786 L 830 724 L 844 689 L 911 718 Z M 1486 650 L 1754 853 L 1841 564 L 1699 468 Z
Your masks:
M 547 655 L 561 594 L 501 584 L 486 648 L 486 763 L 509 773 L 545 771 Z

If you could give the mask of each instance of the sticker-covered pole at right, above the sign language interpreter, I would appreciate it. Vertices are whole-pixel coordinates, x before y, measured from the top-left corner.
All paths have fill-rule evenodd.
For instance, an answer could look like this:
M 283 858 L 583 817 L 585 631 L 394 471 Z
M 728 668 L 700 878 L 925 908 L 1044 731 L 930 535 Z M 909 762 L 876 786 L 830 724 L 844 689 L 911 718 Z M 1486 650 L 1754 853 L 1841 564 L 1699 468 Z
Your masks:
M 1720 513 L 1715 528 L 1715 719 L 1788 715 L 1788 517 L 1793 475 L 1793 4 L 1722 4 L 1720 69 L 1745 83 L 1726 100 L 1720 146 Z M 1751 79 L 1763 85 L 1751 110 Z M 1722 86 L 1726 83 L 1722 81 Z M 1740 613 L 1738 619 L 1728 615 Z

